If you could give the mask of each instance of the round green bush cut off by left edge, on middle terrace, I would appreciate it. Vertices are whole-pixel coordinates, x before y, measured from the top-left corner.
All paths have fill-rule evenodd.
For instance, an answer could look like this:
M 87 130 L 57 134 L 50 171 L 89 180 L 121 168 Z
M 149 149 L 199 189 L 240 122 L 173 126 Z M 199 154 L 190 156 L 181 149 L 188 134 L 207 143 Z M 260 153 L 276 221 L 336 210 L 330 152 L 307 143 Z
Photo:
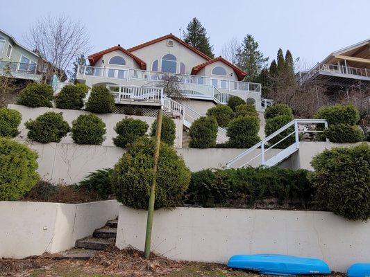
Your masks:
M 15 109 L 0 109 L 0 136 L 15 137 L 19 134 L 18 126 L 21 123 L 22 115 Z

